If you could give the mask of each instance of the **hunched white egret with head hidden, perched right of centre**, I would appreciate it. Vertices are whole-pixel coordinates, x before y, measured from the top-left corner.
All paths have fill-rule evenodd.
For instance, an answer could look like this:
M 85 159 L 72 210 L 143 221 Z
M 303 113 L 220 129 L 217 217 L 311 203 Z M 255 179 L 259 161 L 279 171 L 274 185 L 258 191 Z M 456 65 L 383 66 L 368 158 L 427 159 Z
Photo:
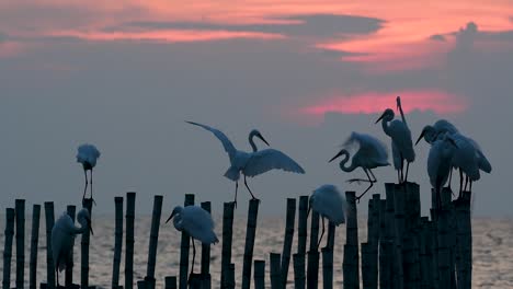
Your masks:
M 317 247 L 319 247 L 324 235 L 324 218 L 335 226 L 345 223 L 345 210 L 347 206 L 345 197 L 340 194 L 334 185 L 320 186 L 314 190 L 309 201 L 308 215 L 310 215 L 310 210 L 314 210 L 320 215 L 322 220 L 322 232 L 317 243 Z

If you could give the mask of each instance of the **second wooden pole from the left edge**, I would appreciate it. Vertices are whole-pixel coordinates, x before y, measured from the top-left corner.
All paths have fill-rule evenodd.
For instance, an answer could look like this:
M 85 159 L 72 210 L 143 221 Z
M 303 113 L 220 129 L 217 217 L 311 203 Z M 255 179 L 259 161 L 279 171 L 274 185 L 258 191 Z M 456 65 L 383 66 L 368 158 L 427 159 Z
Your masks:
M 16 218 L 16 288 L 24 287 L 25 276 L 25 200 L 15 200 Z

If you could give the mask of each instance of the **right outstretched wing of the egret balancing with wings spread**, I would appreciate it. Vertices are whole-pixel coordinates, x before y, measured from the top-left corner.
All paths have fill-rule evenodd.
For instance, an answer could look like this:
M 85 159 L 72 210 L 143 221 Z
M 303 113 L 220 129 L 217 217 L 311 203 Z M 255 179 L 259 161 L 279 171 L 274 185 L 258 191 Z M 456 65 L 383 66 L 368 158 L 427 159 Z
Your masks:
M 247 176 L 255 176 L 273 169 L 299 174 L 305 173 L 305 170 L 290 157 L 274 149 L 253 152 L 242 171 Z

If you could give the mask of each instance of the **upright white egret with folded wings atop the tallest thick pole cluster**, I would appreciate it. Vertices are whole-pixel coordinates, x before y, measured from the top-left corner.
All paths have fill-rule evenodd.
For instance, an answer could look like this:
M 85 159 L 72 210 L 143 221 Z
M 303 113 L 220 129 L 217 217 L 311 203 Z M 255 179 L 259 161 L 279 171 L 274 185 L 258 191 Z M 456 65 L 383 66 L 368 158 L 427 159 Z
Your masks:
M 397 107 L 401 113 L 402 120 L 394 119 L 396 116 L 394 111 L 387 108 L 376 120 L 376 124 L 381 122 L 383 130 L 391 138 L 394 167 L 398 171 L 397 176 L 399 183 L 404 183 L 408 181 L 410 163 L 415 160 L 415 152 L 413 151 L 411 131 L 408 128 L 404 113 L 402 112 L 401 99 L 399 96 L 397 96 Z M 407 162 L 406 175 L 403 174 L 404 161 Z

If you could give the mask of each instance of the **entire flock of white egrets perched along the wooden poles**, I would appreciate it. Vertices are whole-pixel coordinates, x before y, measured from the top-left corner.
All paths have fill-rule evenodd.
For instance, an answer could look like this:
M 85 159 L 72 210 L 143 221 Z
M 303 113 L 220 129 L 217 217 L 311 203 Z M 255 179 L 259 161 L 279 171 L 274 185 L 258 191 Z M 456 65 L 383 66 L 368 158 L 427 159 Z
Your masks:
M 383 115 L 376 120 L 381 123 L 384 132 L 391 139 L 392 164 L 397 171 L 399 184 L 404 184 L 408 181 L 408 172 L 410 163 L 415 160 L 413 141 L 411 131 L 408 127 L 407 119 L 401 106 L 401 100 L 397 97 L 397 109 L 401 115 L 401 119 L 395 119 L 394 109 L 387 108 Z M 249 134 L 249 143 L 252 148 L 251 152 L 237 150 L 223 134 L 223 131 L 202 125 L 198 123 L 186 122 L 191 125 L 202 127 L 216 136 L 221 142 L 225 151 L 228 153 L 230 166 L 225 173 L 225 176 L 236 183 L 236 192 L 233 204 L 237 206 L 237 192 L 239 180 L 243 176 L 244 186 L 253 199 L 256 199 L 253 192 L 248 186 L 247 177 L 253 177 L 271 170 L 284 170 L 287 172 L 304 174 L 305 170 L 290 157 L 275 149 L 259 150 L 254 138 L 259 138 L 266 146 L 270 146 L 262 134 L 253 129 Z M 470 189 L 472 182 L 480 178 L 480 171 L 490 173 L 492 167 L 490 162 L 485 157 L 479 144 L 464 136 L 458 129 L 445 119 L 436 122 L 432 126 L 425 126 L 417 140 L 418 144 L 422 138 L 431 144 L 428 158 L 428 174 L 431 185 L 436 192 L 437 208 L 442 204 L 440 201 L 440 192 L 448 182 L 451 187 L 451 178 L 453 170 L 459 170 L 459 197 L 464 190 Z M 352 155 L 352 157 L 351 157 Z M 329 162 L 341 158 L 340 169 L 343 172 L 350 173 L 361 167 L 366 178 L 351 178 L 349 183 L 368 183 L 368 187 L 357 196 L 360 200 L 375 183 L 377 178 L 373 170 L 381 166 L 388 166 L 388 153 L 386 146 L 377 138 L 360 132 L 352 132 L 347 140 L 342 144 L 342 149 Z M 96 160 L 100 158 L 100 151 L 92 144 L 82 144 L 78 148 L 77 162 L 82 164 L 86 175 L 86 187 L 83 197 L 86 198 L 88 186 L 90 188 L 90 198 L 92 199 L 92 171 L 96 165 Z M 351 158 L 351 164 L 347 164 Z M 404 171 L 406 162 L 406 171 Z M 88 171 L 90 177 L 88 178 Z M 465 180 L 465 185 L 464 185 Z M 309 209 L 318 212 L 322 220 L 322 233 L 319 238 L 319 243 L 324 233 L 324 218 L 335 223 L 337 226 L 344 223 L 345 198 L 333 185 L 323 185 L 314 190 L 310 200 Z M 198 240 L 204 244 L 217 243 L 218 239 L 214 232 L 214 221 L 209 212 L 198 206 L 176 206 L 167 222 L 173 220 L 173 226 L 179 231 L 185 231 L 192 236 L 193 243 L 193 263 L 195 257 L 194 240 Z M 64 270 L 69 264 L 70 252 L 72 252 L 75 236 L 83 232 L 90 231 L 91 218 L 88 209 L 83 208 L 77 216 L 80 228 L 76 227 L 68 213 L 62 216 L 55 222 L 52 230 L 52 248 L 57 273 Z M 191 270 L 193 271 L 194 266 Z

